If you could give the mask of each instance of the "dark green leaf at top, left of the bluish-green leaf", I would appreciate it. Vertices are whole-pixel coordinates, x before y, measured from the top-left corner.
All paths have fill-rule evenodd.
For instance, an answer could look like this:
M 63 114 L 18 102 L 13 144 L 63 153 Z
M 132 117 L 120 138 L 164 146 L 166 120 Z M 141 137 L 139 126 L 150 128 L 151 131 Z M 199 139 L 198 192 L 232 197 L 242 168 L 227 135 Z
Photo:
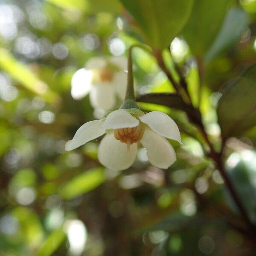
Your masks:
M 181 34 L 192 53 L 202 57 L 215 40 L 230 0 L 195 0 L 192 14 Z

